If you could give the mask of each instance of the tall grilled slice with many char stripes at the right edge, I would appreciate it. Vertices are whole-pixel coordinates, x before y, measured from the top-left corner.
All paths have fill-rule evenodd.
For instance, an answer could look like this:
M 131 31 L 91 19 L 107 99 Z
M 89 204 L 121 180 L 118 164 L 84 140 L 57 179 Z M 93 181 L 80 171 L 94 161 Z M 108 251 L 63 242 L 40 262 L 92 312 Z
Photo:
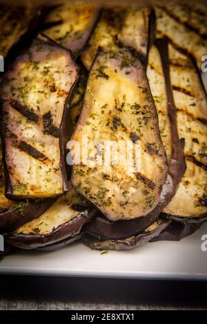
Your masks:
M 197 68 L 170 46 L 170 77 L 177 107 L 177 128 L 184 141 L 186 172 L 164 208 L 175 221 L 204 221 L 207 216 L 207 98 Z

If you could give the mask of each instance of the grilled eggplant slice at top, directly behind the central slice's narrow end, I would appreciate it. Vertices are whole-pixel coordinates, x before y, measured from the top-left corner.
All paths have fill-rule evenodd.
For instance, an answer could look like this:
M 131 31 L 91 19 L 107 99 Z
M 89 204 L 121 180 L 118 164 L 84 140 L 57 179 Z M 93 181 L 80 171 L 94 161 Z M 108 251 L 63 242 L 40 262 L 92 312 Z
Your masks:
M 103 10 L 81 59 L 88 70 L 99 47 L 117 50 L 119 43 L 135 50 L 146 63 L 148 48 L 155 31 L 155 14 L 151 8 L 109 8 Z

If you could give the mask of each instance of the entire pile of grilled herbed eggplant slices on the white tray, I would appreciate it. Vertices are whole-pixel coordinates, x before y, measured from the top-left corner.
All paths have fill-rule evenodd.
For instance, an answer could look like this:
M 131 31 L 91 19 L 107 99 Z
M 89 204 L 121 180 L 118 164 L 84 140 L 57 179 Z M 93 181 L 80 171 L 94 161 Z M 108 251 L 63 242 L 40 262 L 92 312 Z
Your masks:
M 7 52 L 26 39 L 34 17 L 27 10 Z M 199 75 L 206 7 L 77 3 L 48 12 L 1 86 L 0 232 L 8 251 L 52 251 L 78 239 L 128 250 L 195 232 L 207 219 Z M 72 175 L 69 139 L 95 143 Z M 120 146 L 105 163 L 107 141 L 130 141 L 141 162 L 132 154 L 130 165 L 117 163 L 126 159 Z

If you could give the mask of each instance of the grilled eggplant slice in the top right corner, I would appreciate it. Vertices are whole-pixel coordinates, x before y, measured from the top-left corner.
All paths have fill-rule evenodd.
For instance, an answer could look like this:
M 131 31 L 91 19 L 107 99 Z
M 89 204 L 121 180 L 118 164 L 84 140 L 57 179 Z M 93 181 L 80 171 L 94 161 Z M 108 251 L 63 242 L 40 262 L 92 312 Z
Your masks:
M 172 6 L 175 7 L 174 4 Z M 177 12 L 176 14 L 175 10 Z M 186 26 L 186 23 L 184 23 L 184 21 L 186 21 L 186 17 L 184 18 L 184 16 L 187 14 L 188 9 L 175 8 L 172 10 L 171 7 L 168 9 L 168 6 L 164 6 L 164 8 L 155 8 L 155 12 L 157 16 L 157 37 L 168 37 L 170 43 L 172 43 L 175 48 L 185 54 L 192 55 L 197 62 L 197 67 L 201 68 L 201 57 L 207 52 L 207 40 L 203 37 L 203 35 L 207 33 L 207 25 L 202 22 L 203 19 L 207 19 L 205 11 L 203 12 L 205 18 L 197 14 L 197 21 L 195 22 L 194 20 L 193 24 L 196 23 L 197 25 L 196 31 L 192 30 L 192 28 L 189 28 L 189 25 Z M 192 19 L 188 19 L 188 22 L 192 24 Z M 200 33 L 199 30 L 201 29 L 202 32 Z

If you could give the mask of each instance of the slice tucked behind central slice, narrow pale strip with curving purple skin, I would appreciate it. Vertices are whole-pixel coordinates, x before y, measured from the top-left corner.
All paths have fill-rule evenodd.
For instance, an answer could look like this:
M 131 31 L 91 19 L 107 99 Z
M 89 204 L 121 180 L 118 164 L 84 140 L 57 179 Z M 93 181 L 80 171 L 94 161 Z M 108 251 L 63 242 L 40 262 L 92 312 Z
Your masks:
M 185 172 L 184 152 L 177 132 L 176 108 L 170 83 L 168 42 L 165 39 L 157 39 L 150 50 L 147 76 L 158 112 L 161 139 L 168 156 L 168 173 L 161 190 L 159 203 L 147 217 L 130 221 L 110 222 L 99 215 L 84 227 L 84 230 L 92 236 L 102 239 L 122 239 L 123 241 L 124 238 L 129 236 L 141 234 L 146 227 L 155 221 L 161 210 L 175 195 L 177 185 Z M 135 247 L 135 244 L 133 244 L 133 247 Z

